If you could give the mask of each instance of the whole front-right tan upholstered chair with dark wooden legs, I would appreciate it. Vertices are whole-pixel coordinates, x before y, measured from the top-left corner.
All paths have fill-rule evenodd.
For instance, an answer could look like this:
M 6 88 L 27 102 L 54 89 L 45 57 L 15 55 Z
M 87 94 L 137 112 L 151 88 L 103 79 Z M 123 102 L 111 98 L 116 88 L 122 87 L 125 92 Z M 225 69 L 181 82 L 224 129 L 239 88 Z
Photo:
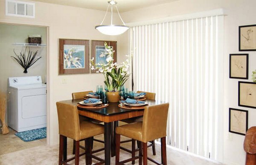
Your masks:
M 116 127 L 116 165 L 139 158 L 141 165 L 143 155 L 143 165 L 147 165 L 147 159 L 154 162 L 153 159 L 147 157 L 147 143 L 149 141 L 161 138 L 161 157 L 162 164 L 167 165 L 166 160 L 166 126 L 168 116 L 169 103 L 159 105 L 146 106 L 143 114 L 143 121 L 130 123 Z M 120 152 L 120 135 L 130 137 L 133 140 L 140 141 L 139 157 L 132 154 L 132 159 L 119 162 Z M 141 145 L 143 143 L 143 147 Z M 135 145 L 135 143 L 133 143 Z M 133 146 L 134 148 L 135 146 Z M 143 154 L 142 154 L 143 148 Z

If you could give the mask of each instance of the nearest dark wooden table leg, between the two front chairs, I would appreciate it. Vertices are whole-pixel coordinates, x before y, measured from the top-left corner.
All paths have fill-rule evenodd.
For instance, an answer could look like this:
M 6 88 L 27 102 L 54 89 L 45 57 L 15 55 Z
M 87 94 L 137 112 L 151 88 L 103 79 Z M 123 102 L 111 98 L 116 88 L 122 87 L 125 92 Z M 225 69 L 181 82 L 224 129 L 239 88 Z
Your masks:
M 111 123 L 104 123 L 105 165 L 110 165 Z

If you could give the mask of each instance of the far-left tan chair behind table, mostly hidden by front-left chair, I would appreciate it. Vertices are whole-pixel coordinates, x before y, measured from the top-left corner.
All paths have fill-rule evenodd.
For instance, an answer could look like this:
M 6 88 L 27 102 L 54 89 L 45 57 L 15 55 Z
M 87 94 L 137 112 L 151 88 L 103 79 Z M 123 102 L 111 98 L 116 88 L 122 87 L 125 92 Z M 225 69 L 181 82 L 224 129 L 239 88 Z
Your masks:
M 84 98 L 84 96 L 86 96 L 88 93 L 90 93 L 90 92 L 93 92 L 93 91 L 84 91 L 84 92 L 75 92 L 75 93 L 72 93 L 72 99 L 74 100 L 74 99 L 82 99 L 82 98 Z M 81 115 L 79 115 L 79 120 L 81 121 L 81 120 L 89 120 L 89 121 L 91 121 L 92 119 L 90 119 L 90 118 L 88 118 L 88 117 L 85 117 L 85 116 L 81 116 Z M 92 120 L 93 122 L 96 122 L 96 123 L 101 123 L 101 121 L 98 121 L 98 120 Z M 99 142 L 99 143 L 104 143 L 104 141 L 102 141 L 102 140 L 98 140 L 98 139 L 94 139 L 93 138 L 93 140 L 94 141 L 97 141 L 97 142 Z M 84 142 L 84 144 L 85 144 L 86 142 Z M 79 145 L 80 146 L 80 148 L 82 148 L 82 149 L 84 149 L 85 150 L 85 147 L 84 146 L 82 146 L 82 145 Z M 92 142 L 92 148 L 93 148 L 93 142 Z M 73 140 L 73 154 L 75 154 L 75 140 Z

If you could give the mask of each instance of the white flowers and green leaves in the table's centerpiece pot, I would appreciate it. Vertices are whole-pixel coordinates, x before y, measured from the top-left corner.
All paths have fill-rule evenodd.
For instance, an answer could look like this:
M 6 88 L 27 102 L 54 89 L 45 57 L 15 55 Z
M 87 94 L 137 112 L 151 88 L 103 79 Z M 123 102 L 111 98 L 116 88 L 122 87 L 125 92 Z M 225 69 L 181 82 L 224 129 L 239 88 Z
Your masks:
M 106 63 L 94 64 L 93 59 L 90 60 L 91 70 L 96 70 L 96 73 L 103 73 L 105 77 L 105 85 L 108 88 L 109 92 L 119 92 L 121 87 L 128 80 L 130 73 L 128 72 L 129 68 L 129 59 L 126 59 L 121 64 L 113 63 L 113 53 L 114 50 L 112 47 L 108 46 L 107 43 L 104 43 L 105 54 L 106 54 Z

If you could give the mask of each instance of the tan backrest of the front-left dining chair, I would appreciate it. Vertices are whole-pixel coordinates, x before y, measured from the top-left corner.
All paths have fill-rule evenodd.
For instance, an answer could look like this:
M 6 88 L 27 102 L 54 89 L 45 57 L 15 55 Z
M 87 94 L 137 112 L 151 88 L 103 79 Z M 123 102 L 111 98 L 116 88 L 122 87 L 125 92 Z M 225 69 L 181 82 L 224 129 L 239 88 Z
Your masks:
M 59 134 L 80 140 L 79 114 L 76 106 L 57 102 Z

